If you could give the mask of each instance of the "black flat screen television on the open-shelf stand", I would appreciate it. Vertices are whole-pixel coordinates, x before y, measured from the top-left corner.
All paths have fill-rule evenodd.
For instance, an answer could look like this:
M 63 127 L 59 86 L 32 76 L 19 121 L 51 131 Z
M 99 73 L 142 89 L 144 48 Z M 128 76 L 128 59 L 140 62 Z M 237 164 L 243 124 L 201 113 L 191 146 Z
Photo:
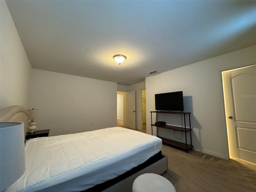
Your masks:
M 183 111 L 183 92 L 155 94 L 156 110 Z

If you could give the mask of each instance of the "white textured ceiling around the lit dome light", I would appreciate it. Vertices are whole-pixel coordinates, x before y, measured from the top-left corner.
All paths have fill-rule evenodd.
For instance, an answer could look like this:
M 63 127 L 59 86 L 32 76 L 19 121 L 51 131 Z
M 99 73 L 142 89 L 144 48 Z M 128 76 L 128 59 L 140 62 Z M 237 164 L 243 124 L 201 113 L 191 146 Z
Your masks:
M 256 44 L 256 1 L 6 3 L 32 68 L 123 85 Z

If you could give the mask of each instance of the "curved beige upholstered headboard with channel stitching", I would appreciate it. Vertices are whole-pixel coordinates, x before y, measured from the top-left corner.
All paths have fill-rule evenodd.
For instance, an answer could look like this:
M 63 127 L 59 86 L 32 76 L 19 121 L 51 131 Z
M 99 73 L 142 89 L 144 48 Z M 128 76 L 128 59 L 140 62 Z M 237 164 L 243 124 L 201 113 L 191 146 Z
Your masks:
M 12 105 L 1 110 L 0 120 L 6 121 L 18 121 L 24 123 L 24 140 L 26 137 L 26 131 L 28 127 L 28 114 L 29 112 L 22 106 Z

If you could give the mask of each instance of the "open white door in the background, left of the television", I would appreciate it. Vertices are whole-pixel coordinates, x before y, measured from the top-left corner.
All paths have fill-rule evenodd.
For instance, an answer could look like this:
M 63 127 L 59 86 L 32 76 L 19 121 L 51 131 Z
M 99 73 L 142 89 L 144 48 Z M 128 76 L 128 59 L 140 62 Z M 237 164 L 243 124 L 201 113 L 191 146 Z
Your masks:
M 127 92 L 127 118 L 126 127 L 136 129 L 135 90 Z

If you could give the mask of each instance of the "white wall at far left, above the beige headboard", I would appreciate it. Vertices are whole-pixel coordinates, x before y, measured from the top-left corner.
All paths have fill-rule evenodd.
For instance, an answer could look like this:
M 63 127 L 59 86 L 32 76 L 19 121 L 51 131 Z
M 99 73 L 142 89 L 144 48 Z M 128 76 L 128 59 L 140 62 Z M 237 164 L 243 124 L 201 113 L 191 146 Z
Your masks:
M 31 66 L 5 1 L 0 1 L 0 109 L 28 107 Z

